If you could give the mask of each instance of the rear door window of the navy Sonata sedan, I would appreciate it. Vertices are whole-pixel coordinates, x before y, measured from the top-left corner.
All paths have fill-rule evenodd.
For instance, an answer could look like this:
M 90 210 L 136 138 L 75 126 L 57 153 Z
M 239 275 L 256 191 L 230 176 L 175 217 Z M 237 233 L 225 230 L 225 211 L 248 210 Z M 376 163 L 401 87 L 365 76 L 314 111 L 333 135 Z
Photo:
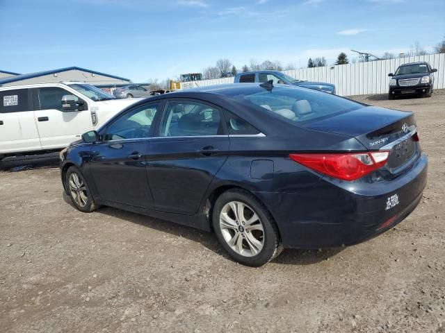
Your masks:
M 198 102 L 168 102 L 159 136 L 195 137 L 223 134 L 220 110 Z

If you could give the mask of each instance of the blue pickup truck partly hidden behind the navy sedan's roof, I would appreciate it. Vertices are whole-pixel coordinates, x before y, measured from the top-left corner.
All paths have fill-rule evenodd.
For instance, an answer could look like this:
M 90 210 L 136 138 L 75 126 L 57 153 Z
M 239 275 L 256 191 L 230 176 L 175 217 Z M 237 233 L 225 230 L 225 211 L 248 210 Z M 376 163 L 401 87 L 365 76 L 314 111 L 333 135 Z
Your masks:
M 248 71 L 245 73 L 238 73 L 235 76 L 234 82 L 265 83 L 268 80 L 273 80 L 274 85 L 297 85 L 298 87 L 305 87 L 320 90 L 321 92 L 327 92 L 328 94 L 335 94 L 335 85 L 332 85 L 332 83 L 297 80 L 292 76 L 282 73 L 281 71 Z

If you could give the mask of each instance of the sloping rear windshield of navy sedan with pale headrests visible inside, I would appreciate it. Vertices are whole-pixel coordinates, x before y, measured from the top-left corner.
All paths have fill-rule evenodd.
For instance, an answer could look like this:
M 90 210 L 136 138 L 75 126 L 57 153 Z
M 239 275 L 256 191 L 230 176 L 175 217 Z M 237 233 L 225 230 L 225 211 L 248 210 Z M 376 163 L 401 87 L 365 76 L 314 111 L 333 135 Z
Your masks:
M 295 122 L 312 121 L 364 107 L 339 96 L 300 87 L 276 86 L 270 92 L 263 88 L 254 91 L 246 89 L 241 94 L 231 95 L 242 103 L 260 106 Z

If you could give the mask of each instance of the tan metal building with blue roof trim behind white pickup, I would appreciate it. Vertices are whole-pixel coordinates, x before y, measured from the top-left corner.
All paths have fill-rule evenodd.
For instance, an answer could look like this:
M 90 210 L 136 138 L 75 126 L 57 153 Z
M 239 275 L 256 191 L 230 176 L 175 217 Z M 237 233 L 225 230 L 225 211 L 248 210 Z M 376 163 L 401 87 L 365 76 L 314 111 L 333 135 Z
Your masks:
M 129 78 L 121 78 L 120 76 L 100 73 L 99 71 L 92 71 L 81 67 L 66 67 L 30 74 L 0 71 L 0 86 L 3 87 L 9 85 L 28 85 L 33 83 L 65 81 L 90 83 L 91 85 L 105 88 L 129 85 L 131 83 Z

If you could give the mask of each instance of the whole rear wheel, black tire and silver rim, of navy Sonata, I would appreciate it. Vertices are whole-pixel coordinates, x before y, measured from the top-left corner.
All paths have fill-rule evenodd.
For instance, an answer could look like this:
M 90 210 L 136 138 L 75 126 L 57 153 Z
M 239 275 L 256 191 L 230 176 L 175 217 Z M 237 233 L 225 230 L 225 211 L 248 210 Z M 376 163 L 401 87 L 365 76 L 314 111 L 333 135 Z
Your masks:
M 221 246 L 246 266 L 262 266 L 282 251 L 273 216 L 248 191 L 232 189 L 221 194 L 213 206 L 212 226 Z

